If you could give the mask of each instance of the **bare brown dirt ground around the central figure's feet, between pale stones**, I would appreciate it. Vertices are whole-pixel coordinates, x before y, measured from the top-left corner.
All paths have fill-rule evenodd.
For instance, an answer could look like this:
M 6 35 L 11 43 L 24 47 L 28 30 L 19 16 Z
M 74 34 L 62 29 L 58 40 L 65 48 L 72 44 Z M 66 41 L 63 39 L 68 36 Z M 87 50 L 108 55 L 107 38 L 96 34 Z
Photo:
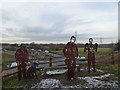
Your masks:
M 39 75 L 38 78 L 35 78 L 34 79 L 34 83 L 39 83 L 42 79 L 57 79 L 61 82 L 62 85 L 66 86 L 66 85 L 78 85 L 80 83 L 84 84 L 85 82 L 83 80 L 78 80 L 77 77 L 84 77 L 84 76 L 96 76 L 96 75 L 103 75 L 105 73 L 103 72 L 93 72 L 91 71 L 90 74 L 88 74 L 87 70 L 86 71 L 76 71 L 75 72 L 75 78 L 74 80 L 72 81 L 68 81 L 67 80 L 67 72 L 64 73 L 64 74 L 61 74 L 61 75 L 46 75 L 46 76 L 42 76 L 42 75 Z

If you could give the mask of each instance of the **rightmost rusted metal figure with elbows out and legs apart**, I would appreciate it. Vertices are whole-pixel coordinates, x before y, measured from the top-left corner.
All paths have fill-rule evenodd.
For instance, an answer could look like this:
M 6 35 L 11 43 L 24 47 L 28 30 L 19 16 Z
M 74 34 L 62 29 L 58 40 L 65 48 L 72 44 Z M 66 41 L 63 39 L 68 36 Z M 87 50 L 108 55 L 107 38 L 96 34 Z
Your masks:
M 89 43 L 84 46 L 84 52 L 88 51 L 88 73 L 90 73 L 90 66 L 92 64 L 93 71 L 95 72 L 95 52 L 97 52 L 98 44 L 93 44 L 93 39 L 89 38 Z

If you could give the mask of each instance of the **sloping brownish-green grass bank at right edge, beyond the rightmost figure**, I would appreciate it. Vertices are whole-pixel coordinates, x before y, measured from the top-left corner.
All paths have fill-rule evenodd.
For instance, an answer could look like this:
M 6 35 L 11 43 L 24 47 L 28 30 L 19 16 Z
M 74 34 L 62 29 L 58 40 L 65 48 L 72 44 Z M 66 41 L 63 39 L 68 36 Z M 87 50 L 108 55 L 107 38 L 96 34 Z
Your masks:
M 113 53 L 113 57 L 111 56 L 111 54 L 109 54 L 108 56 L 102 58 L 101 60 L 99 60 L 96 65 L 97 68 L 100 68 L 102 70 L 105 70 L 109 73 L 114 74 L 115 76 L 119 76 L 120 74 L 120 70 L 118 69 L 119 65 L 118 65 L 118 56 L 120 56 L 120 53 Z

